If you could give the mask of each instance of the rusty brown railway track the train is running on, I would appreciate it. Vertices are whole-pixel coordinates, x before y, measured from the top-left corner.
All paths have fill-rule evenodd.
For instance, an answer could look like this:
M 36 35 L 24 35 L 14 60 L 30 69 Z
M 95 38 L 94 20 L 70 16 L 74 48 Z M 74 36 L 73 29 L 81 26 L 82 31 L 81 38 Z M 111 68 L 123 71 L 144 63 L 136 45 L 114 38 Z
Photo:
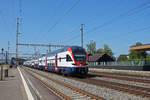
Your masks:
M 33 69 L 30 69 L 30 70 L 33 71 Z M 37 74 L 41 74 L 40 72 L 35 72 L 35 71 L 33 71 L 33 72 L 37 73 Z M 42 72 L 42 73 L 45 73 L 45 72 Z M 47 75 L 48 74 L 49 73 L 47 73 Z M 47 76 L 47 75 L 44 75 L 44 77 L 49 78 L 49 76 Z M 109 81 L 93 79 L 93 78 L 76 78 L 76 77 L 67 77 L 67 78 L 69 78 L 71 80 L 75 80 L 75 81 L 84 82 L 86 84 L 92 84 L 97 87 L 109 88 L 109 89 L 117 90 L 119 92 L 122 91 L 122 92 L 125 92 L 128 94 L 137 95 L 137 96 L 141 96 L 144 98 L 150 98 L 150 94 L 149 94 L 150 88 L 121 84 L 121 83 L 117 83 L 117 82 L 109 82 Z M 101 98 L 101 99 L 103 99 L 103 98 Z

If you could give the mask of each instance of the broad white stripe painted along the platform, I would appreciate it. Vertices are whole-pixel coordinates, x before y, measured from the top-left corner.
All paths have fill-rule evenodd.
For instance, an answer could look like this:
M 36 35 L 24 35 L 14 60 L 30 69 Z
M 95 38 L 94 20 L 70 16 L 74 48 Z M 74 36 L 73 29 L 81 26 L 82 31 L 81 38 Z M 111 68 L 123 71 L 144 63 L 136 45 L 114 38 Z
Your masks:
M 23 75 L 22 75 L 20 69 L 19 69 L 18 67 L 17 67 L 17 69 L 18 69 L 18 71 L 19 71 L 19 73 L 20 73 L 20 76 L 21 76 L 21 79 L 22 79 L 22 82 L 23 82 L 25 91 L 26 91 L 27 96 L 28 96 L 28 100 L 34 100 L 32 94 L 31 94 L 31 91 L 30 91 L 30 89 L 29 89 L 29 87 L 28 87 L 28 85 L 27 85 L 27 83 L 26 83 L 26 81 L 25 81 L 25 79 L 24 79 L 24 77 L 23 77 Z

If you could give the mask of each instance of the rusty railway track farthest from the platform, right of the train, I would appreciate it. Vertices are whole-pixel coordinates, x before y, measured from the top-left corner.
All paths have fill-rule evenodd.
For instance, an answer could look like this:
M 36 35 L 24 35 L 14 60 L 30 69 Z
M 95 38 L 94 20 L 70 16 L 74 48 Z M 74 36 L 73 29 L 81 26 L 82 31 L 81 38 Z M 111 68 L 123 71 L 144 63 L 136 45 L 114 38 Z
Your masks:
M 145 79 L 141 79 L 141 78 L 131 78 L 129 75 L 128 76 L 120 76 L 119 74 L 113 76 L 111 74 L 101 74 L 98 72 L 90 72 L 89 75 L 95 75 L 97 77 L 105 77 L 105 78 L 110 78 L 110 79 L 118 79 L 118 80 L 124 80 L 124 81 L 132 81 L 132 82 L 139 82 L 139 83 L 147 83 L 150 84 L 150 80 L 145 80 Z

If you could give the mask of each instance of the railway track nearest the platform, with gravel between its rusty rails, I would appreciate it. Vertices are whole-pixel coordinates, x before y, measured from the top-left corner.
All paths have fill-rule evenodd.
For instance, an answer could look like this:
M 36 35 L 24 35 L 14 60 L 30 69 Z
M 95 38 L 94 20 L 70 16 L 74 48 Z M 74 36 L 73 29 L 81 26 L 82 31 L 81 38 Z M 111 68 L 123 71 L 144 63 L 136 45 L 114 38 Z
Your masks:
M 40 82 L 45 84 L 48 88 L 53 90 L 56 94 L 58 94 L 60 97 L 62 97 L 65 100 L 91 100 L 91 99 L 92 100 L 105 100 L 102 97 L 95 96 L 77 87 L 73 87 L 69 84 L 55 80 L 41 73 L 37 73 L 31 69 L 27 70 L 24 68 L 24 70 L 28 72 L 30 75 L 32 75 L 34 78 L 38 79 Z

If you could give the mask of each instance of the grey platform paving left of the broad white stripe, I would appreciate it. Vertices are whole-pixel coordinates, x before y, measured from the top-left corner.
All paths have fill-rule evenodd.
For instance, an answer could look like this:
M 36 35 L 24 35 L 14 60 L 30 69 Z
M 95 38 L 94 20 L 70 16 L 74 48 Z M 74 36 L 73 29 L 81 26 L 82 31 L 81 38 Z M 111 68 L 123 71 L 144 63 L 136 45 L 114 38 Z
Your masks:
M 8 73 L 0 81 L 0 100 L 28 100 L 17 68 L 9 69 Z

